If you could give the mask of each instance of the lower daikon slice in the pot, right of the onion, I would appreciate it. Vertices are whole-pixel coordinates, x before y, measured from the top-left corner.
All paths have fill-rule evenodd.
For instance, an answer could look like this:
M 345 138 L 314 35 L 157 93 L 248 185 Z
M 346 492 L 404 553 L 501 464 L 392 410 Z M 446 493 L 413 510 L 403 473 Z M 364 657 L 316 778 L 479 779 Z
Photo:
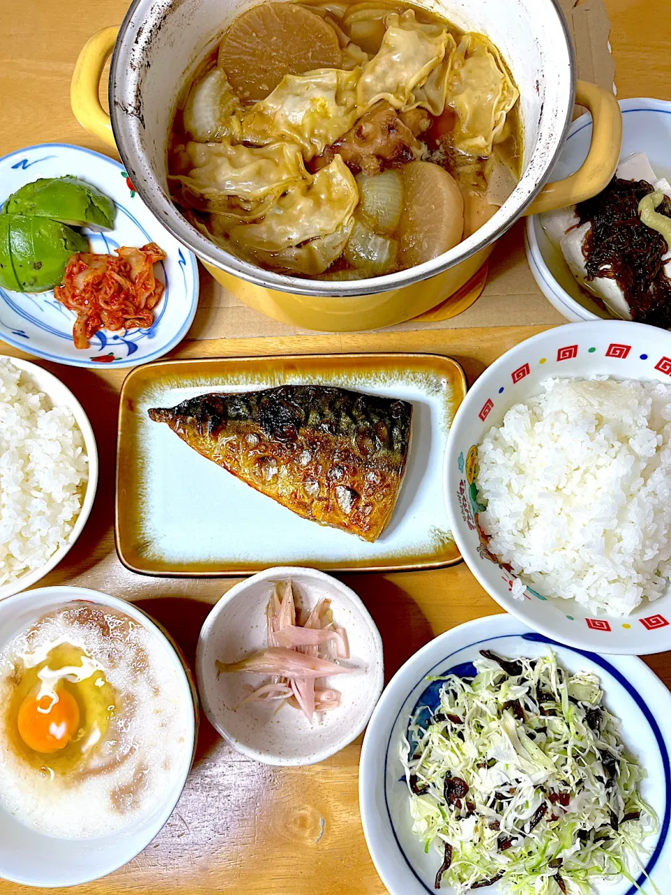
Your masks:
M 403 268 L 412 268 L 461 241 L 463 199 L 454 177 L 432 162 L 411 162 L 401 168 L 401 177 L 398 261 Z

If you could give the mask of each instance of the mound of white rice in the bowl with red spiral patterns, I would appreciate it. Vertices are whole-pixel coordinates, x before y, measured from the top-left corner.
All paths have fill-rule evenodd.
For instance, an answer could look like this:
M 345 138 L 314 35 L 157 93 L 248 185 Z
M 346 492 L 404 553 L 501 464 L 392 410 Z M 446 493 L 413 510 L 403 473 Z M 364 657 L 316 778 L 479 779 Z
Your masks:
M 656 600 L 671 575 L 670 439 L 671 386 L 546 379 L 478 449 L 489 549 L 540 594 L 593 613 Z

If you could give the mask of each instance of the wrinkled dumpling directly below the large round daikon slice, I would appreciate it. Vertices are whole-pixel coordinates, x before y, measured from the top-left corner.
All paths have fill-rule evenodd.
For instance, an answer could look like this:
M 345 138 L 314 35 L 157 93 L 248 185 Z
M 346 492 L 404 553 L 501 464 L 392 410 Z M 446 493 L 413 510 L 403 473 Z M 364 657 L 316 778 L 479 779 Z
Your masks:
M 289 139 L 301 146 L 306 161 L 319 156 L 356 121 L 360 76 L 360 68 L 287 74 L 244 116 L 242 138 L 259 144 Z

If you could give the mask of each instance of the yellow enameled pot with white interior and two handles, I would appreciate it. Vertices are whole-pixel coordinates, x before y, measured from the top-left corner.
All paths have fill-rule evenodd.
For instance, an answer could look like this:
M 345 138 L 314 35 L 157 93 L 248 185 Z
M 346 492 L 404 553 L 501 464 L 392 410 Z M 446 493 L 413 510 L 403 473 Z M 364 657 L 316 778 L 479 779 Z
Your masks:
M 235 16 L 256 2 L 136 0 L 120 29 L 99 31 L 81 50 L 71 99 L 78 121 L 119 150 L 133 185 L 157 219 L 218 282 L 269 317 L 346 332 L 410 320 L 439 303 L 441 316 L 452 316 L 480 294 L 478 288 L 462 287 L 515 220 L 587 199 L 615 173 L 622 137 L 620 109 L 609 91 L 576 83 L 571 39 L 553 0 L 426 0 L 457 27 L 487 34 L 513 72 L 520 90 L 524 150 L 522 178 L 510 198 L 454 249 L 384 277 L 327 283 L 242 261 L 211 243 L 174 207 L 167 189 L 166 143 L 183 84 Z M 113 50 L 107 115 L 98 83 Z M 546 183 L 576 100 L 593 118 L 590 153 L 575 174 Z M 446 301 L 452 295 L 454 303 Z

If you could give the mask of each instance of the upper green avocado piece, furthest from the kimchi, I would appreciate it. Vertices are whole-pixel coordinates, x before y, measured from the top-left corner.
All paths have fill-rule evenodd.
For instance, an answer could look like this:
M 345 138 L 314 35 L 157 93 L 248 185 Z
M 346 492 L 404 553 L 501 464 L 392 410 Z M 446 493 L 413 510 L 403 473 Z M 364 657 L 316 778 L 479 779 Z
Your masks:
M 26 183 L 4 203 L 4 213 L 51 217 L 70 226 L 112 227 L 116 206 L 98 187 L 78 177 L 43 177 Z

